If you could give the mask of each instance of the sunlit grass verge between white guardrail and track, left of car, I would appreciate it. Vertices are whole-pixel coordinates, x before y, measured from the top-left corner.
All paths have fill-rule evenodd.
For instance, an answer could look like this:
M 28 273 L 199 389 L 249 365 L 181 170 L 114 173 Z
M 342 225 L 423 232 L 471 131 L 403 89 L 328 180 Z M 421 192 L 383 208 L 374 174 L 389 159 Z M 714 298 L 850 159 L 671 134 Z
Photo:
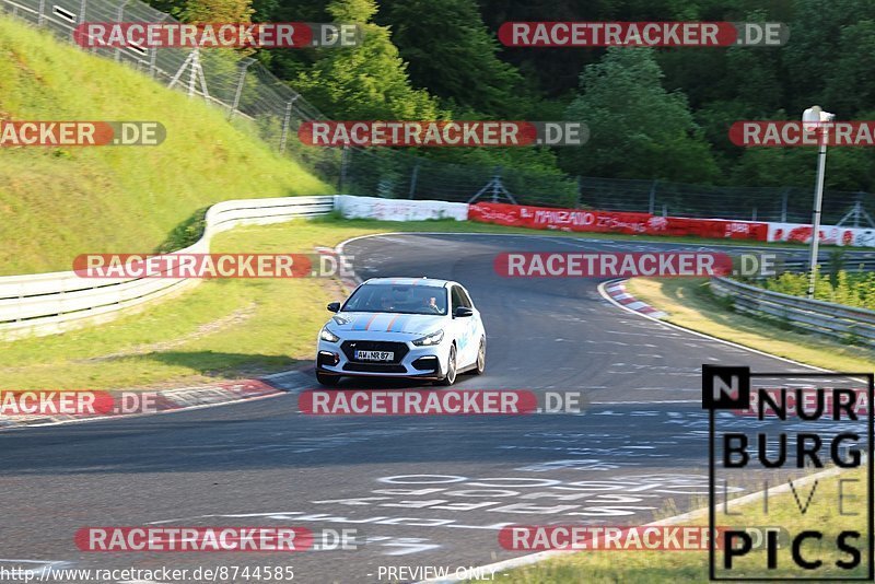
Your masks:
M 312 253 L 378 230 L 292 221 L 219 234 L 211 250 Z M 328 279 L 207 280 L 112 323 L 0 343 L 5 388 L 178 386 L 271 373 L 313 359 Z

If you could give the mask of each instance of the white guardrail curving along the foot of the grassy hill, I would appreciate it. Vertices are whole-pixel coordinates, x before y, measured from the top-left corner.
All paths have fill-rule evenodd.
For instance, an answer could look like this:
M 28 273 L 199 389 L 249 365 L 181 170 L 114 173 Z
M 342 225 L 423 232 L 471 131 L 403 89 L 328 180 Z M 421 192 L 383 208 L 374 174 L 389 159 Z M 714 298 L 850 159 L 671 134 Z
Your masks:
M 219 202 L 207 211 L 200 240 L 174 254 L 208 253 L 213 235 L 236 225 L 327 214 L 334 200 L 334 196 L 323 196 Z M 186 278 L 81 278 L 72 271 L 0 277 L 0 339 L 51 335 L 110 320 L 198 282 Z

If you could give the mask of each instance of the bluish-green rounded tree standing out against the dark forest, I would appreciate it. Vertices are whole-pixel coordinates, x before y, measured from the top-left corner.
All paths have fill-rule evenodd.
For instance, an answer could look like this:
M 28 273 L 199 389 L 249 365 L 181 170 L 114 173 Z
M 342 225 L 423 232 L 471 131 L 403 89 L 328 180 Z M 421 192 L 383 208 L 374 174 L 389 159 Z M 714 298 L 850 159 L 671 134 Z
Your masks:
M 584 68 L 565 117 L 585 122 L 590 141 L 564 149 L 579 175 L 710 183 L 719 177 L 701 129 L 680 92 L 666 92 L 652 49 L 609 48 Z

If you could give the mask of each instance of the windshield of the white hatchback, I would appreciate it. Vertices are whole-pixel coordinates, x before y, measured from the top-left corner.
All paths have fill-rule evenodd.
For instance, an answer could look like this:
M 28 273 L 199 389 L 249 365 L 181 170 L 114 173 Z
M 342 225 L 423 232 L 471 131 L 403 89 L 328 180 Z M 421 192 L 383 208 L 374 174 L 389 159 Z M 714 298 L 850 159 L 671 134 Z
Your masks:
M 446 290 L 433 285 L 365 284 L 343 306 L 346 312 L 446 314 Z

